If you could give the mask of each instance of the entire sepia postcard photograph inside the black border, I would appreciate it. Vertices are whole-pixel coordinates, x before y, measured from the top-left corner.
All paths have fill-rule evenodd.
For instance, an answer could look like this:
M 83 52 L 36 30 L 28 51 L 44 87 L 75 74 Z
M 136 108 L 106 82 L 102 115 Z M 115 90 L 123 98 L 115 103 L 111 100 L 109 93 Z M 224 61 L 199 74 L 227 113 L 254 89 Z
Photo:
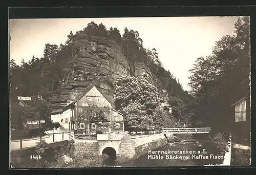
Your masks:
M 250 17 L 9 19 L 10 168 L 251 164 Z

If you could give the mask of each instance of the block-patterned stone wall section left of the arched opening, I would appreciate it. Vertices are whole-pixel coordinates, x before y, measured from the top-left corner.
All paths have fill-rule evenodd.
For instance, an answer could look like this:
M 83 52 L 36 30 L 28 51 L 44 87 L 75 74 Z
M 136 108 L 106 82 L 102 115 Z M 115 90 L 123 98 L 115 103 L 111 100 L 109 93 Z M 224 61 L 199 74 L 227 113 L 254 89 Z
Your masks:
M 74 139 L 75 152 L 99 153 L 99 143 L 97 140 Z

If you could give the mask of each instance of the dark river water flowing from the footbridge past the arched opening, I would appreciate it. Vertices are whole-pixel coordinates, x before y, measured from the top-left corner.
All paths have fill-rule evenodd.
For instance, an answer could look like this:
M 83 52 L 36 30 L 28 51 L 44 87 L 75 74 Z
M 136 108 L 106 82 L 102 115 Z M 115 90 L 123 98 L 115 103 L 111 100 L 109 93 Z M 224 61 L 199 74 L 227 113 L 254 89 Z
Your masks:
M 120 163 L 116 160 L 107 160 L 105 162 L 106 165 L 109 166 L 117 166 L 117 167 L 164 167 L 164 166 L 203 166 L 206 164 L 216 164 L 218 160 L 214 159 L 212 156 L 210 158 L 209 147 L 206 148 L 203 141 L 199 141 L 198 139 L 194 138 L 186 138 L 185 140 L 179 140 L 174 143 L 168 143 L 165 146 L 158 148 L 154 151 L 160 151 L 160 155 L 163 159 L 152 159 L 149 155 L 153 154 L 145 154 L 144 156 L 140 157 L 139 159 L 132 160 L 129 162 Z M 169 151 L 168 153 L 172 152 L 172 154 L 168 154 L 166 156 L 165 152 L 161 154 L 161 151 Z M 177 154 L 179 151 L 182 154 Z M 190 151 L 190 152 L 189 152 Z M 191 151 L 193 151 L 191 153 Z M 187 152 L 187 153 L 186 153 Z M 212 154 L 212 153 L 211 153 Z M 171 155 L 175 158 L 176 155 L 178 157 L 184 156 L 183 159 L 170 159 Z M 201 157 L 200 157 L 201 155 Z M 203 156 L 208 156 L 208 159 L 204 159 Z M 221 158 L 222 159 L 222 158 Z

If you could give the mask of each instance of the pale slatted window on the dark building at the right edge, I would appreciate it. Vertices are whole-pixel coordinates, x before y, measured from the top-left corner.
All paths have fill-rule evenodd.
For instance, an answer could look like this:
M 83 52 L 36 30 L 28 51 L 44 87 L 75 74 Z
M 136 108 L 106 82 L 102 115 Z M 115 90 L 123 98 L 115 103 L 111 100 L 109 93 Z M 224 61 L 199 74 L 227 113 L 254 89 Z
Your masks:
M 246 121 L 246 101 L 240 101 L 234 106 L 236 122 Z

